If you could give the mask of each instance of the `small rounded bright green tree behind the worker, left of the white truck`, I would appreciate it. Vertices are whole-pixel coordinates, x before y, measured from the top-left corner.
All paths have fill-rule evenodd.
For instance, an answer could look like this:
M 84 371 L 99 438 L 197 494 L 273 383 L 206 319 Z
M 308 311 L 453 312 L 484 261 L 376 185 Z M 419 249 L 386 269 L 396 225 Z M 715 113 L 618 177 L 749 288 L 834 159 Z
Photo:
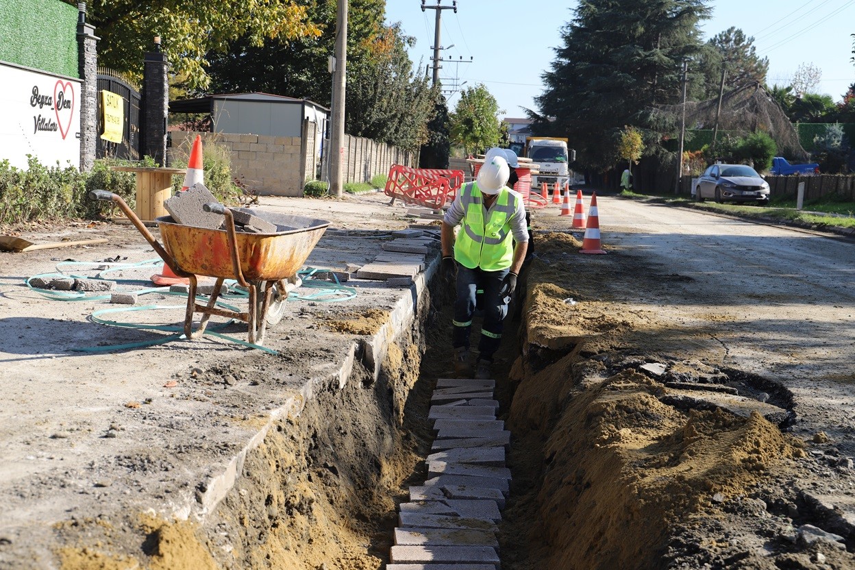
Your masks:
M 496 97 L 479 83 L 467 87 L 451 115 L 451 141 L 463 145 L 466 154 L 486 150 L 498 143 L 501 127 Z

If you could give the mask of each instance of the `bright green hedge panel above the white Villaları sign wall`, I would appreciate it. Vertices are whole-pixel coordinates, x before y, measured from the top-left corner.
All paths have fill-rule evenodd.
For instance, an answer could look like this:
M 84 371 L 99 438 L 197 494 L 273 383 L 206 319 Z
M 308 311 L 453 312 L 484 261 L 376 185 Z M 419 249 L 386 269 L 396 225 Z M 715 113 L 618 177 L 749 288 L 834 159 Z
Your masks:
M 79 78 L 77 15 L 60 0 L 3 0 L 0 61 Z

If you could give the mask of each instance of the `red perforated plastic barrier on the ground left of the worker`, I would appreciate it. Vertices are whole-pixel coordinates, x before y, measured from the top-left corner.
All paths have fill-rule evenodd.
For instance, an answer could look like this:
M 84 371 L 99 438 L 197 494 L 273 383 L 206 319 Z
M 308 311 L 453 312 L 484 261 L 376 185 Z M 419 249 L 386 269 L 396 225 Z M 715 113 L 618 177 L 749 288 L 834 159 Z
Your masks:
M 463 184 L 463 170 L 410 168 L 393 164 L 386 179 L 386 196 L 405 203 L 442 209 Z

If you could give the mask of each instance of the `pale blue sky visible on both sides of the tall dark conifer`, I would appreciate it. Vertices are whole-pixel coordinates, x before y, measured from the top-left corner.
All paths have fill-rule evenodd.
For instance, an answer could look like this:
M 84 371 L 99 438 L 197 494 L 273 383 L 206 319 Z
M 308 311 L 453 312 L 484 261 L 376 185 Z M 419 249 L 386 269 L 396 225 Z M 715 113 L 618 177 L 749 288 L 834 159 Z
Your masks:
M 438 0 L 427 0 L 435 6 Z M 451 6 L 451 0 L 439 0 Z M 769 82 L 787 85 L 800 63 L 823 71 L 817 91 L 840 100 L 855 82 L 852 36 L 855 0 L 713 0 L 711 20 L 703 23 L 705 38 L 729 26 L 754 36 L 758 54 L 769 57 Z M 386 20 L 400 21 L 404 32 L 416 38 L 410 59 L 422 73 L 433 55 L 434 10 L 422 13 L 421 0 L 387 0 Z M 525 116 L 520 107 L 536 109 L 534 97 L 542 91 L 541 73 L 561 44 L 559 31 L 572 18 L 572 0 L 457 0 L 457 14 L 442 11 L 440 47 L 443 85 L 469 87 L 483 83 L 498 100 L 504 116 Z M 453 47 L 448 47 L 453 46 Z M 471 63 L 462 63 L 469 61 Z M 450 99 L 451 109 L 457 94 Z

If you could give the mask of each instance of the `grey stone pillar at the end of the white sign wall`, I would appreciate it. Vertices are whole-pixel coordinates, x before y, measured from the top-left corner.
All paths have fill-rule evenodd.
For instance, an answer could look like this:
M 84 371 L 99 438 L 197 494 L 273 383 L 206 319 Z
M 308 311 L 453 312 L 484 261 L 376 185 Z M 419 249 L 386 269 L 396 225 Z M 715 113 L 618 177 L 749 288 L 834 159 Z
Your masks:
M 77 67 L 80 73 L 80 171 L 91 170 L 95 163 L 98 136 L 98 56 L 95 26 L 86 23 L 86 3 L 77 4 Z

